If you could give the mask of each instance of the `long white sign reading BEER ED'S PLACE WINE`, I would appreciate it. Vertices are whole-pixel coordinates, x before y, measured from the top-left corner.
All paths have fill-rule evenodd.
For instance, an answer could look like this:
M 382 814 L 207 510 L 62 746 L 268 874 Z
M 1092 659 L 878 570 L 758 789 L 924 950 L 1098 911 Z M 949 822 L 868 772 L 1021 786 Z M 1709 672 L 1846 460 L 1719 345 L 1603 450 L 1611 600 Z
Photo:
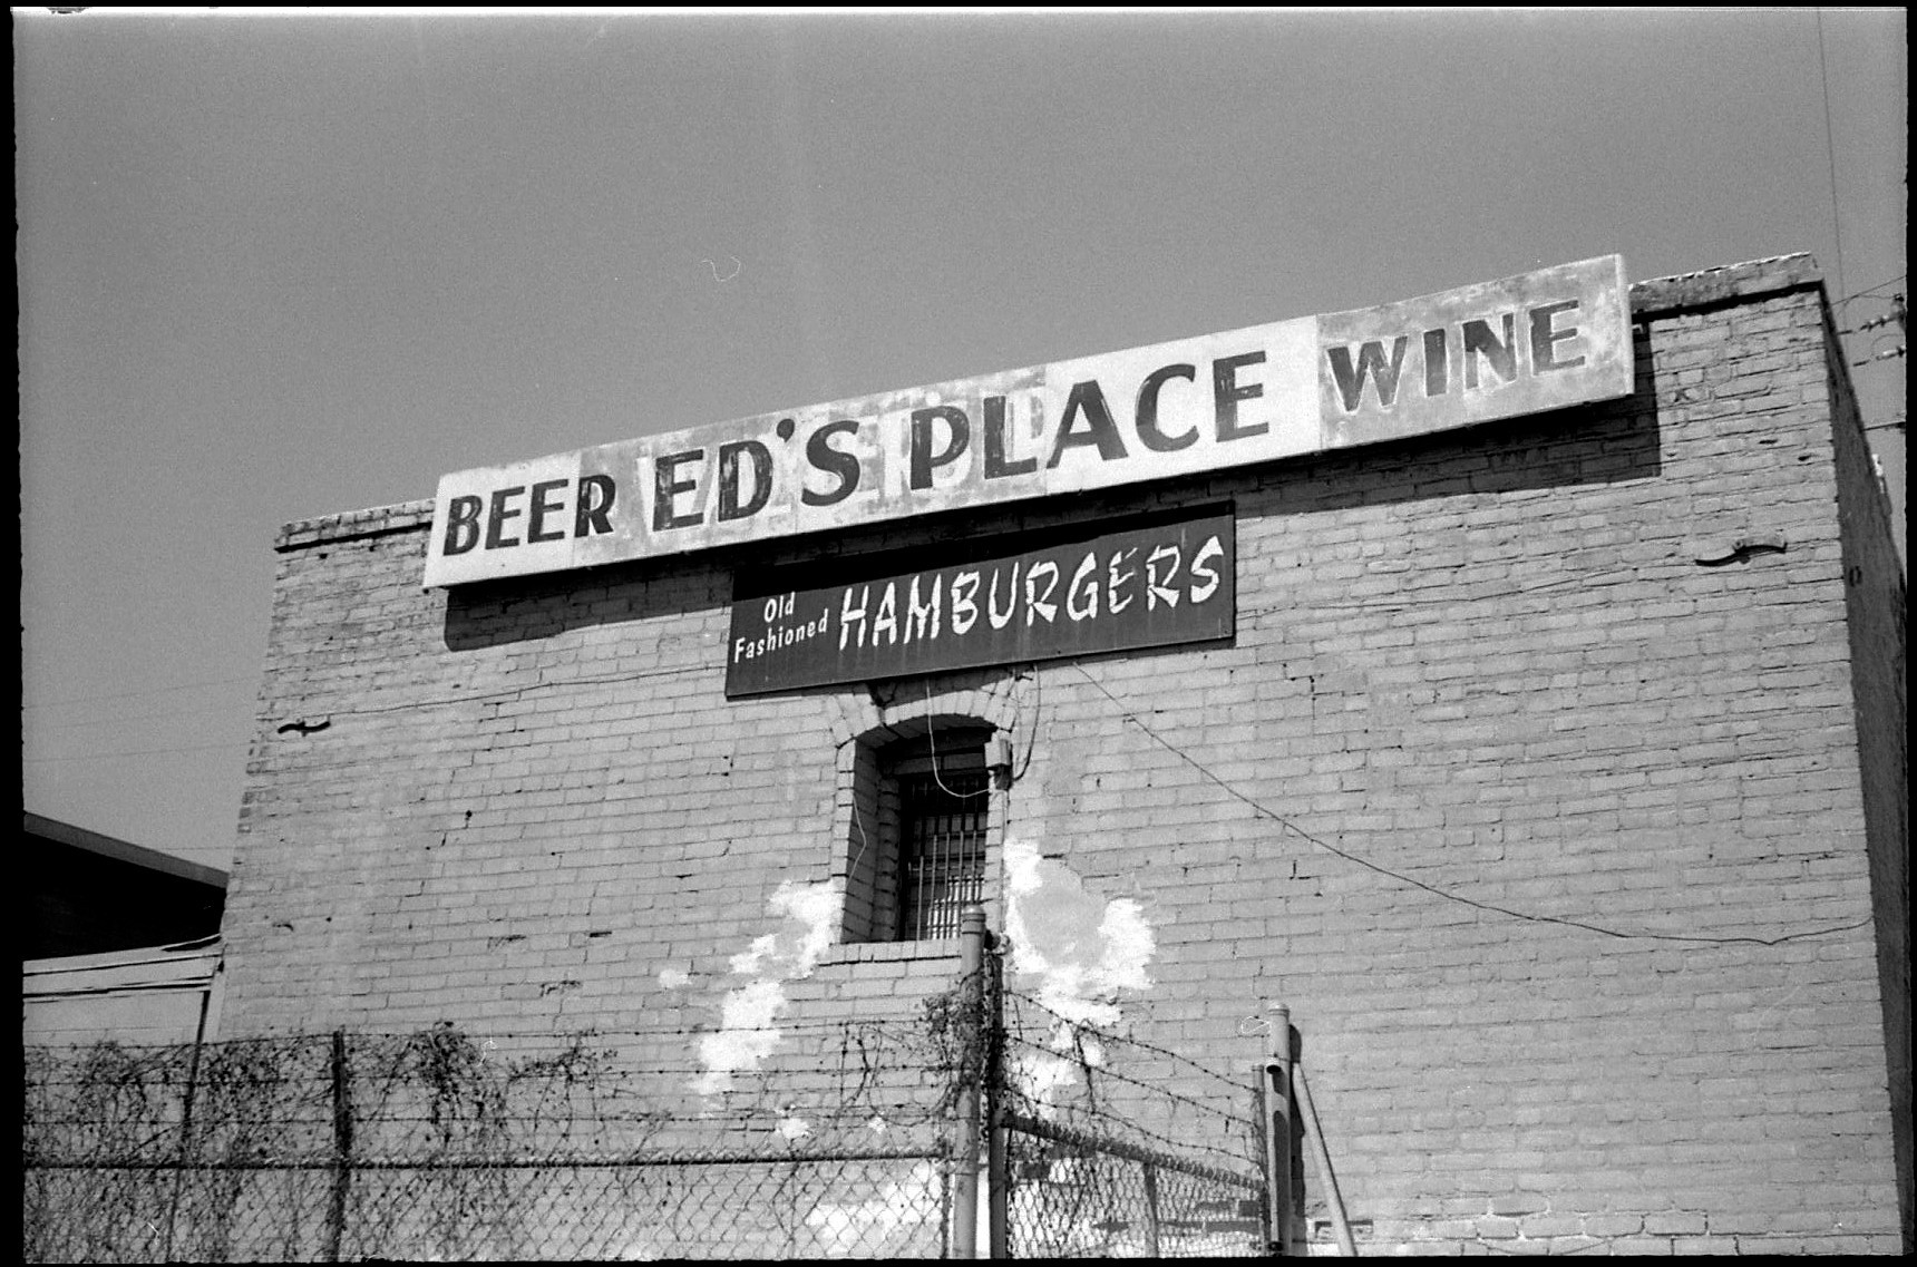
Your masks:
M 439 481 L 462 585 L 1169 479 L 1631 391 L 1618 255 Z

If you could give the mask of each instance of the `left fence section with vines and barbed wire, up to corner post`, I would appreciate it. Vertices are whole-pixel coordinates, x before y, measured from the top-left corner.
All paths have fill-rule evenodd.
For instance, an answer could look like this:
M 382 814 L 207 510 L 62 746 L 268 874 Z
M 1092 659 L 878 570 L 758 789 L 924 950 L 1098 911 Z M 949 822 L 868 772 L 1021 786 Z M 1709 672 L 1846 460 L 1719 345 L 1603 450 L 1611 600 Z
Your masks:
M 941 1257 L 951 1108 L 922 1027 L 788 1037 L 803 1068 L 723 1096 L 592 1037 L 506 1056 L 449 1025 L 35 1050 L 23 1257 Z

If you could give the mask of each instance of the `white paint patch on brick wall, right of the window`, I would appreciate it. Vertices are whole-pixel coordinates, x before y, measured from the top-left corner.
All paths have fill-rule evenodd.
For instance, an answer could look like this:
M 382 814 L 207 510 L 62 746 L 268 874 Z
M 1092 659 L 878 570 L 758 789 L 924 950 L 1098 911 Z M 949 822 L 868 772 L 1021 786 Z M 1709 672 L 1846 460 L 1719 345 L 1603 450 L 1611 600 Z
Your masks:
M 1097 1039 L 1077 1027 L 1120 1024 L 1118 995 L 1150 989 L 1146 964 L 1158 943 L 1137 901 L 1100 899 L 1064 863 L 1039 857 L 1031 841 L 1005 843 L 1005 876 L 1012 972 L 1035 981 L 1033 997 L 1064 1018 L 1052 1025 L 1054 1054 L 1026 1052 L 1012 1066 L 1018 1087 L 1051 1116 L 1052 1094 L 1077 1081 L 1081 1064 L 1104 1064 Z

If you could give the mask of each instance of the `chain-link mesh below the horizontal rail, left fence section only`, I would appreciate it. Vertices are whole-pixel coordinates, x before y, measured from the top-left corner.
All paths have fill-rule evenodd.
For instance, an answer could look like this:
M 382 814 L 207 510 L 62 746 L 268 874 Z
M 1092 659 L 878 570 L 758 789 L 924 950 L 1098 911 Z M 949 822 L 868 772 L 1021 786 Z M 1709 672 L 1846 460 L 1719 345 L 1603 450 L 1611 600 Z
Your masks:
M 29 1165 L 25 1261 L 943 1257 L 918 1152 L 441 1163 Z

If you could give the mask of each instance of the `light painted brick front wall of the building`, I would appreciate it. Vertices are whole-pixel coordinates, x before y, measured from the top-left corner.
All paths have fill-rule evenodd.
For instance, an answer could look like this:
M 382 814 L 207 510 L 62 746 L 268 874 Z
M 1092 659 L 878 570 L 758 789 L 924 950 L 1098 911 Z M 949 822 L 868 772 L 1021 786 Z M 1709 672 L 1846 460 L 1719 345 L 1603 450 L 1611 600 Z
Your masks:
M 1806 259 L 1633 307 L 1618 404 L 771 552 L 1231 498 L 1231 646 L 727 702 L 736 554 L 447 594 L 426 502 L 289 525 L 224 1035 L 677 1033 L 696 1071 L 769 933 L 784 1016 L 912 1016 L 949 947 L 794 930 L 859 736 L 978 717 L 1018 751 L 995 926 L 1016 876 L 1123 914 L 1148 985 L 1100 1001 L 1212 1068 L 1286 1002 L 1373 1252 L 1896 1250 L 1877 487 Z

